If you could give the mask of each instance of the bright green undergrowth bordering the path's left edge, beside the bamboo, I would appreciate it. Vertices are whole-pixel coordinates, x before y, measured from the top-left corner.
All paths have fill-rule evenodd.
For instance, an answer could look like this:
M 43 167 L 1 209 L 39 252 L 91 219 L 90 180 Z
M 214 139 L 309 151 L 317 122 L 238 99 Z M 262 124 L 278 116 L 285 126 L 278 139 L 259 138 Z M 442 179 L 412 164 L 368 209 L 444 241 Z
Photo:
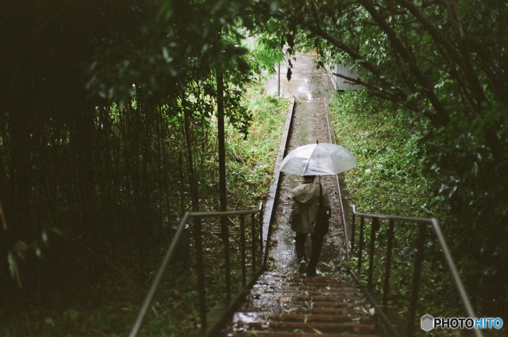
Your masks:
M 253 82 L 246 88 L 241 104 L 252 114 L 252 122 L 246 132 L 233 128 L 232 124 L 226 130 L 228 198 L 233 200 L 231 207 L 235 209 L 255 207 L 266 198 L 273 175 L 273 154 L 278 150 L 288 107 L 287 100 L 266 96 L 261 83 Z M 210 128 L 209 143 L 202 148 L 202 155 L 210 160 L 203 161 L 200 168 L 200 185 L 209 198 L 218 196 L 214 173 L 218 166 L 214 157 L 216 124 L 212 122 Z

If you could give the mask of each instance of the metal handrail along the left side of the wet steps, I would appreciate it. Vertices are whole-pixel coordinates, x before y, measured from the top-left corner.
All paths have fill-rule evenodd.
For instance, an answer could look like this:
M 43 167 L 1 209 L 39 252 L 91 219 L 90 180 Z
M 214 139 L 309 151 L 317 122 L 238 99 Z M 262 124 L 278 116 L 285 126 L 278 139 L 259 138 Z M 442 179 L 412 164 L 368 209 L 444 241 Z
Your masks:
M 256 237 L 255 235 L 255 216 L 259 215 L 258 217 L 258 228 L 259 228 L 259 236 Z M 200 319 L 201 319 L 201 330 L 202 333 L 206 331 L 207 328 L 207 322 L 206 322 L 206 315 L 207 315 L 207 308 L 206 308 L 206 290 L 204 286 L 204 270 L 203 270 L 203 252 L 202 252 L 202 230 L 201 230 L 201 219 L 203 218 L 225 218 L 225 217 L 240 217 L 240 235 L 241 235 L 241 260 L 242 260 L 242 286 L 246 286 L 246 254 L 245 254 L 245 216 L 250 215 L 251 216 L 251 254 L 252 254 L 252 271 L 256 271 L 256 247 L 258 246 L 258 243 L 256 242 L 259 239 L 260 242 L 260 250 L 261 250 L 261 261 L 263 261 L 262 266 L 259 270 L 261 272 L 265 269 L 265 263 L 266 260 L 264 256 L 268 253 L 269 244 L 267 243 L 265 247 L 263 247 L 263 202 L 260 203 L 258 209 L 253 210 L 240 210 L 240 211 L 226 211 L 226 212 L 186 212 L 183 218 L 180 220 L 178 227 L 176 229 L 176 233 L 171 240 L 171 243 L 169 244 L 169 248 L 166 252 L 166 255 L 164 256 L 164 259 L 160 265 L 160 267 L 157 270 L 157 273 L 155 275 L 155 278 L 153 279 L 153 282 L 150 286 L 150 289 L 143 301 L 143 304 L 141 306 L 141 309 L 139 311 L 139 314 L 136 318 L 136 321 L 134 322 L 134 325 L 132 327 L 132 330 L 129 334 L 129 337 L 135 337 L 139 333 L 139 329 L 141 327 L 141 324 L 143 322 L 143 319 L 146 315 L 146 313 L 149 310 L 150 304 L 153 300 L 153 297 L 155 296 L 155 293 L 157 291 L 158 286 L 161 283 L 162 277 L 164 272 L 166 271 L 166 268 L 168 266 L 169 261 L 171 261 L 171 258 L 175 252 L 175 249 L 178 245 L 179 240 L 181 239 L 183 230 L 185 228 L 185 225 L 189 222 L 189 220 L 194 220 L 194 238 L 196 243 L 196 258 L 197 258 L 197 273 L 198 273 L 198 296 L 200 299 Z M 229 251 L 229 235 L 226 233 L 226 236 L 224 236 L 223 233 L 223 240 L 226 244 L 225 251 Z M 265 249 L 265 252 L 263 252 L 263 249 Z M 230 267 L 229 267 L 229 261 L 225 261 L 226 266 L 226 273 L 231 273 Z M 227 291 L 227 300 L 228 302 L 231 301 L 231 285 L 227 285 L 226 291 Z

